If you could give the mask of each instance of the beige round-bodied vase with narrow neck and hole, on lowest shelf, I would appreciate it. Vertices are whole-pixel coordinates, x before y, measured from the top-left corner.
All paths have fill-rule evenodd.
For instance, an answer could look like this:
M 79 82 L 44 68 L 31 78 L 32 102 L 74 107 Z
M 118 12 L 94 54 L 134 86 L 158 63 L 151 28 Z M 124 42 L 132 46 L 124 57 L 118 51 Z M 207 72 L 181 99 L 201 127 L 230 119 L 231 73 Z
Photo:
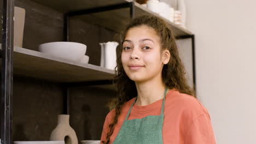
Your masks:
M 66 144 L 78 144 L 77 135 L 69 125 L 69 115 L 58 115 L 58 124 L 51 132 L 50 141 L 65 141 Z

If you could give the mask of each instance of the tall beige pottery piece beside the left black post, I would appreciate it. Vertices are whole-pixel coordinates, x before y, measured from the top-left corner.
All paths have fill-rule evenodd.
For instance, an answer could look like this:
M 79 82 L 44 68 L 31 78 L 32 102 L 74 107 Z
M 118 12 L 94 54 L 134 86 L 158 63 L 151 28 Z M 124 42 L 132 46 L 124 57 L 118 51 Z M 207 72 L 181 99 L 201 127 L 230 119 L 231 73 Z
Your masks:
M 14 7 L 14 46 L 22 47 L 25 9 Z

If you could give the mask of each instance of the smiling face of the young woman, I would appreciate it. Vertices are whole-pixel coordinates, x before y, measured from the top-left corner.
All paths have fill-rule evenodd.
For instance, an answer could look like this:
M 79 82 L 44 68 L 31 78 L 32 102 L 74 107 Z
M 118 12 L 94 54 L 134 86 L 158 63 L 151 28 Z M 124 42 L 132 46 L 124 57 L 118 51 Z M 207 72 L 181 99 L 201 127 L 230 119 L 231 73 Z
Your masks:
M 121 54 L 125 73 L 137 82 L 161 77 L 164 64 L 160 52 L 160 38 L 153 28 L 144 25 L 130 28 Z

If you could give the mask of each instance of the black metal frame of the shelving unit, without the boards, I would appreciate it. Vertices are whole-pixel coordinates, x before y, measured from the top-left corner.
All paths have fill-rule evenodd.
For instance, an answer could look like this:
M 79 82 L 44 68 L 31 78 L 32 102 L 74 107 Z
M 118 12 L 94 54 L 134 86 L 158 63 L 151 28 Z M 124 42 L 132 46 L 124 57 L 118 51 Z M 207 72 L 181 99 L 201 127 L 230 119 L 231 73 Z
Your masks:
M 14 0 L 3 0 L 3 37 L 2 37 L 2 97 L 1 97 L 1 143 L 12 144 L 13 143 L 13 47 L 14 47 Z M 102 11 L 130 8 L 130 18 L 135 17 L 135 4 L 134 2 L 127 2 L 115 5 L 109 5 L 106 7 L 85 9 L 79 11 L 71 11 L 65 14 L 65 41 L 69 41 L 69 19 L 72 16 L 85 15 L 92 13 L 99 13 Z M 195 75 L 195 36 L 183 35 L 176 37 L 176 39 L 192 40 L 193 51 L 193 82 L 194 89 L 196 90 L 196 75 Z M 102 81 L 89 81 L 89 82 L 77 82 L 77 83 L 62 83 L 65 89 L 65 107 L 63 111 L 65 114 L 69 113 L 69 88 L 81 85 L 109 85 L 112 84 L 112 80 Z

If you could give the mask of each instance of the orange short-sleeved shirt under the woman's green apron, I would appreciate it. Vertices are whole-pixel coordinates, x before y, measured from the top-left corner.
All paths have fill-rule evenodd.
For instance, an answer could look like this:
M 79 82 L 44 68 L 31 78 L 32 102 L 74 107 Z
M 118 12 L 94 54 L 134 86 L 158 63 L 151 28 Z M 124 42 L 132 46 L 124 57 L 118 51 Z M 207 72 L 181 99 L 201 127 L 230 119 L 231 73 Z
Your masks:
M 110 143 L 125 120 L 127 112 L 135 98 L 127 101 L 110 136 Z M 162 99 L 145 106 L 133 105 L 128 120 L 143 118 L 149 115 L 161 114 Z M 113 122 L 115 112 L 110 111 L 106 116 L 101 141 L 106 141 L 109 131 L 108 125 Z M 162 127 L 162 140 L 164 144 L 213 144 L 216 143 L 211 125 L 211 118 L 206 108 L 192 95 L 179 93 L 175 88 L 167 92 L 164 108 L 164 124 Z

